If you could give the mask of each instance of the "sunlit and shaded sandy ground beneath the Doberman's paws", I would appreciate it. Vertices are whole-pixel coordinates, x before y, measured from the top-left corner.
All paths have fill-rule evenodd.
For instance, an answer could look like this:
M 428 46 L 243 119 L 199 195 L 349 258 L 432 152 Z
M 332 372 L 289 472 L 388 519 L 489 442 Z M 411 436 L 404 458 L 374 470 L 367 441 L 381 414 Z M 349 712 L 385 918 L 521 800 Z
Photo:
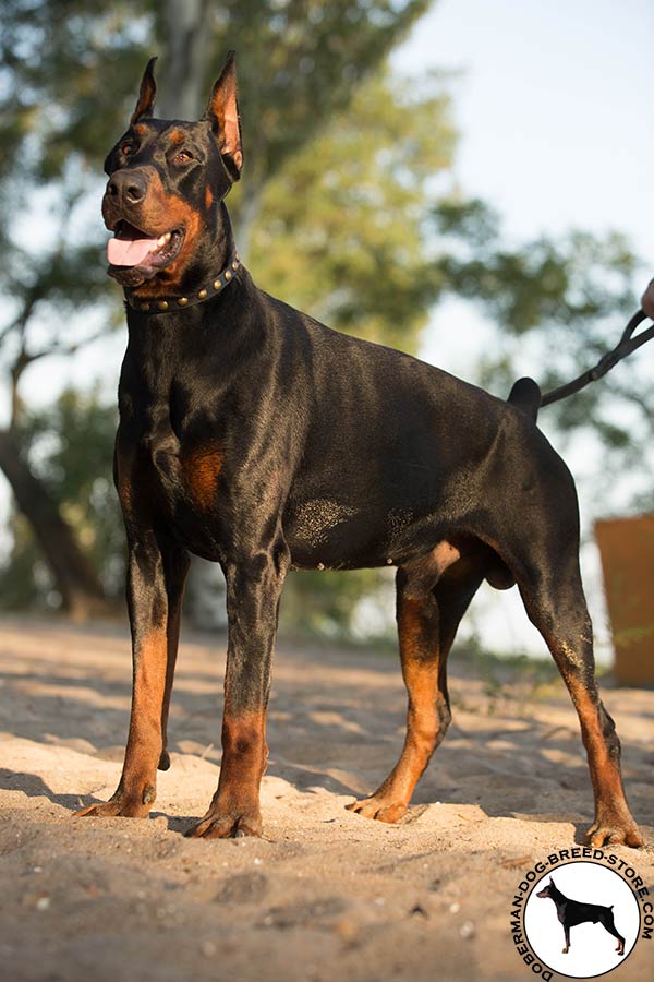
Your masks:
M 182 646 L 172 768 L 150 821 L 71 819 L 117 783 L 126 633 L 0 622 L 0 977 L 43 980 L 533 978 L 509 933 L 513 890 L 592 817 L 558 682 L 488 684 L 452 666 L 455 722 L 398 826 L 344 810 L 395 763 L 404 693 L 388 654 L 280 645 L 263 785 L 266 838 L 182 836 L 219 768 L 225 650 Z M 607 687 L 654 885 L 654 693 Z M 639 943 L 611 978 L 652 972 Z M 651 977 L 651 974 L 650 974 Z

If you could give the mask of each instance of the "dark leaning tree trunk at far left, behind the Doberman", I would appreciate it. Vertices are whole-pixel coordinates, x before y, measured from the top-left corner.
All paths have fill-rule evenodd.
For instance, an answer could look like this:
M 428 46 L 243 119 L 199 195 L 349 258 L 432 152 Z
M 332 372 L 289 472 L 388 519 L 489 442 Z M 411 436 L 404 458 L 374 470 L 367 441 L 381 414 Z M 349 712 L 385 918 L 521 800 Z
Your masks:
M 55 576 L 64 610 L 75 620 L 107 613 L 109 606 L 90 563 L 9 431 L 0 431 L 0 468 Z

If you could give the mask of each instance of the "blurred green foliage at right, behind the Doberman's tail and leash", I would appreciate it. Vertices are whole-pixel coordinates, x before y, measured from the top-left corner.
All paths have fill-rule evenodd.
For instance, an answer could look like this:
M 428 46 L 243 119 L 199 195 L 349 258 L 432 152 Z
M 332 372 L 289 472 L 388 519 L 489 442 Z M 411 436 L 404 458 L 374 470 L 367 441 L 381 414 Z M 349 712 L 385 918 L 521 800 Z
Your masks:
M 477 381 L 506 396 L 520 374 L 544 392 L 569 382 L 613 348 L 637 309 L 632 284 L 640 263 L 617 232 L 571 231 L 507 249 L 498 216 L 483 202 L 445 202 L 434 213 L 447 251 L 438 270 L 447 289 L 479 302 L 497 326 L 477 366 Z M 594 448 L 598 507 L 654 506 L 652 355 L 642 348 L 605 379 L 544 408 L 540 426 L 578 448 Z M 584 465 L 588 466 L 588 465 Z M 607 480 L 607 472 L 613 476 Z

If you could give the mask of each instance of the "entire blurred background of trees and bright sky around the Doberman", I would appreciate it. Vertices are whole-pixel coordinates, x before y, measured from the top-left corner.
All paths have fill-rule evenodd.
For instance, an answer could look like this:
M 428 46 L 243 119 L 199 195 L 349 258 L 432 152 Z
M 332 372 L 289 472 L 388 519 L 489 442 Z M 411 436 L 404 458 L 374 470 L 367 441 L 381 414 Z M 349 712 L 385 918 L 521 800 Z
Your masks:
M 125 326 L 99 204 L 152 55 L 158 115 L 193 119 L 237 49 L 239 251 L 341 331 L 500 396 L 520 374 L 547 390 L 614 346 L 654 274 L 646 0 L 0 0 L 0 23 L 4 610 L 122 612 Z M 654 511 L 651 347 L 540 418 L 578 480 L 604 658 L 593 523 Z M 194 568 L 186 606 L 223 623 L 216 567 Z M 287 630 L 370 643 L 392 623 L 388 571 L 289 578 Z M 482 590 L 463 636 L 545 654 L 516 590 Z

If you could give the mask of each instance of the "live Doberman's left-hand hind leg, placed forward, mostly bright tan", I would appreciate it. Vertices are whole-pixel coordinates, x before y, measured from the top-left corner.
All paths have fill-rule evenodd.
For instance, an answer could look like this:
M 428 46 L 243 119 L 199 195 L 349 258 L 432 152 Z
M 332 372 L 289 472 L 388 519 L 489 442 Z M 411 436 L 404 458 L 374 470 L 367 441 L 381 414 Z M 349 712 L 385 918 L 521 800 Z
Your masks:
M 445 550 L 441 550 L 441 556 Z M 461 618 L 484 578 L 480 558 L 458 559 L 436 575 L 398 570 L 397 620 L 402 675 L 409 695 L 407 736 L 400 758 L 371 798 L 348 805 L 366 818 L 397 822 L 434 750 L 445 736 L 451 714 L 447 692 L 447 656 Z M 440 577 L 440 578 L 438 578 Z M 437 583 L 434 584 L 434 579 Z

